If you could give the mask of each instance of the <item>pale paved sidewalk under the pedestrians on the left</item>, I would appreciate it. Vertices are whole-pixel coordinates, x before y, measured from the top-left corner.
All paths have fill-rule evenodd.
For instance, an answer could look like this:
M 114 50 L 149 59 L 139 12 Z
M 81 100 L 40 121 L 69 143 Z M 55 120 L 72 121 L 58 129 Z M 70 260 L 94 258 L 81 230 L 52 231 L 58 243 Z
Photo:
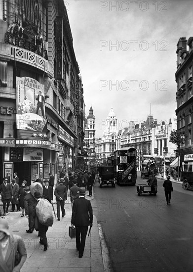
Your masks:
M 86 198 L 91 200 L 92 204 L 93 196 L 88 197 L 86 192 Z M 54 209 L 56 213 L 56 204 L 54 204 Z M 9 207 L 10 210 L 11 207 Z M 37 231 L 26 232 L 28 219 L 21 217 L 21 212 L 8 212 L 6 214 L 5 218 L 8 221 L 9 229 L 13 234 L 20 235 L 26 245 L 28 256 L 21 272 L 104 272 L 96 217 L 93 215 L 93 227 L 89 237 L 87 233 L 83 257 L 78 258 L 76 238 L 71 239 L 69 237 L 72 216 L 69 196 L 65 202 L 65 211 L 65 217 L 61 217 L 60 221 L 57 221 L 57 217 L 54 217 L 53 226 L 48 228 L 46 236 L 49 247 L 47 251 L 43 251 L 43 245 L 39 244 Z

